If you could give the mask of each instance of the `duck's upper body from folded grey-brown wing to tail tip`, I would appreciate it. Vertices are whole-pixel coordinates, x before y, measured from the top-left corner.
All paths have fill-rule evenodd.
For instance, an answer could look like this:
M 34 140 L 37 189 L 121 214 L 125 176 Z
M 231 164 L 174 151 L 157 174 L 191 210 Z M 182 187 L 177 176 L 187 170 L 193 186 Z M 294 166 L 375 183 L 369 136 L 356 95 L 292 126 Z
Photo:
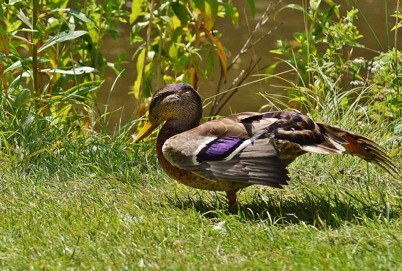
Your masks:
M 354 149 L 349 151 L 352 142 Z M 244 112 L 177 134 L 163 146 L 166 159 L 210 181 L 228 180 L 273 187 L 287 184 L 286 166 L 306 152 L 358 155 L 393 170 L 377 144 L 359 134 L 291 111 Z M 381 165 L 382 164 L 382 165 Z

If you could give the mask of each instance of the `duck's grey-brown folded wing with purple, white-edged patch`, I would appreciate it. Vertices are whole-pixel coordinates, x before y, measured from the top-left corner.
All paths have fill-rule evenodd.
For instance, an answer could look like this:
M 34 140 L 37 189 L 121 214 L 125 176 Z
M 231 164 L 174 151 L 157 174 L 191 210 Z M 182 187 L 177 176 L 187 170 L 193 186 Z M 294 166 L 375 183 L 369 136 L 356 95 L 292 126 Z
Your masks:
M 211 180 L 287 185 L 286 164 L 278 158 L 275 139 L 267 128 L 277 118 L 245 112 L 201 124 L 168 139 L 166 159 Z

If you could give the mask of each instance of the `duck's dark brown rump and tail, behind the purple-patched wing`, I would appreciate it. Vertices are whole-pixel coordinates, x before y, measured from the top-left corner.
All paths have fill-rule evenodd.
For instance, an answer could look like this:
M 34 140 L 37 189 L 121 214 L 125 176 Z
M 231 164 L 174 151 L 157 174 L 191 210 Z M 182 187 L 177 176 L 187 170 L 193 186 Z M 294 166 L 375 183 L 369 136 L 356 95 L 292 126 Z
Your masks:
M 275 124 L 269 126 L 267 132 L 274 134 L 276 142 L 281 142 L 280 145 L 285 145 L 282 142 L 286 142 L 288 145 L 295 143 L 301 150 L 307 152 L 345 153 L 358 156 L 388 173 L 400 175 L 392 158 L 384 153 L 386 150 L 361 134 L 330 124 L 314 122 L 308 116 L 297 112 L 277 111 L 265 113 L 265 116 L 278 119 Z M 297 156 L 292 151 L 285 151 L 285 148 L 281 148 L 281 150 L 281 158 L 290 156 L 290 160 L 292 160 Z

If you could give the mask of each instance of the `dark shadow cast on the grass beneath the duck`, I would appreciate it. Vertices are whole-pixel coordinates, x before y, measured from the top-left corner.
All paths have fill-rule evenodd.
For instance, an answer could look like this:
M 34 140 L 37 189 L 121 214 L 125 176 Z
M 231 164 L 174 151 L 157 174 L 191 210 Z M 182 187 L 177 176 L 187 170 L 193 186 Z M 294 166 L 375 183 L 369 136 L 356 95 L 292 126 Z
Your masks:
M 211 197 L 212 198 L 212 197 Z M 192 197 L 167 198 L 169 205 L 180 210 L 193 209 L 207 218 L 236 216 L 239 220 L 266 221 L 276 225 L 287 225 L 304 222 L 314 226 L 331 226 L 336 228 L 345 222 L 357 222 L 358 218 L 373 219 L 379 214 L 384 217 L 398 218 L 402 216 L 399 206 L 389 206 L 384 202 L 362 202 L 352 195 L 341 199 L 337 195 L 304 194 L 302 197 L 279 197 L 264 201 L 254 197 L 246 204 L 228 210 L 226 197 L 217 194 L 213 200 L 205 199 L 201 194 Z

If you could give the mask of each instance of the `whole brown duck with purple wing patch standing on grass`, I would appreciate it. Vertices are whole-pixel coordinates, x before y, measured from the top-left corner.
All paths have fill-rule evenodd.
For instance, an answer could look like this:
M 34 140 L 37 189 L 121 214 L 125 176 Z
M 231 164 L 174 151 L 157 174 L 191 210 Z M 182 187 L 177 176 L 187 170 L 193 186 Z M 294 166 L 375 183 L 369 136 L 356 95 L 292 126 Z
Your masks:
M 229 208 L 236 206 L 237 192 L 244 187 L 288 185 L 286 167 L 309 152 L 358 156 L 397 173 L 386 150 L 371 139 L 299 112 L 243 112 L 200 124 L 202 108 L 191 85 L 166 85 L 152 96 L 134 142 L 164 122 L 156 139 L 162 169 L 189 187 L 226 192 Z

